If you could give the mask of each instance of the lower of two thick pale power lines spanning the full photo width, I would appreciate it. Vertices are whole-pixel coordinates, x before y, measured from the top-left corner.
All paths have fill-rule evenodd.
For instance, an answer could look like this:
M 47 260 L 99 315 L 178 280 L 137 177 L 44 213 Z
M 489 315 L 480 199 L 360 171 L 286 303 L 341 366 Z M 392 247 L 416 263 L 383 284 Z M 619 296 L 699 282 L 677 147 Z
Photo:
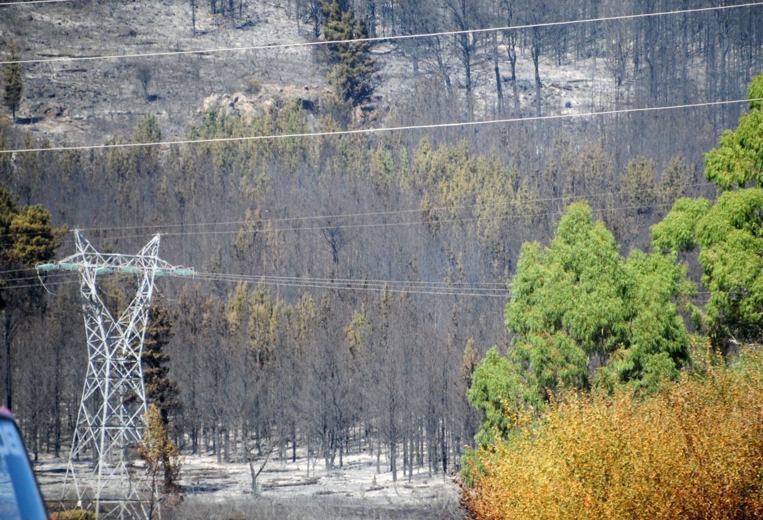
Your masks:
M 111 144 L 96 144 L 96 145 L 85 145 L 85 146 L 53 146 L 50 148 L 18 148 L 18 149 L 0 150 L 0 154 L 22 153 L 22 152 L 62 152 L 62 151 L 68 151 L 68 150 L 134 148 L 138 146 L 172 146 L 172 145 L 195 144 L 195 143 L 230 143 L 230 142 L 237 142 L 237 141 L 258 141 L 258 140 L 272 140 L 272 139 L 288 139 L 288 138 L 297 138 L 297 137 L 326 137 L 326 136 L 353 135 L 353 134 L 361 134 L 361 133 L 398 132 L 401 130 L 427 130 L 427 129 L 434 129 L 434 128 L 477 127 L 477 126 L 482 126 L 486 124 L 517 123 L 519 121 L 573 119 L 575 117 L 594 117 L 594 116 L 606 116 L 606 115 L 614 115 L 614 114 L 633 114 L 636 112 L 656 112 L 661 110 L 675 110 L 678 108 L 698 108 L 698 107 L 716 106 L 720 104 L 749 103 L 750 101 L 763 101 L 763 98 L 734 99 L 734 100 L 728 100 L 728 101 L 706 101 L 703 103 L 673 104 L 673 105 L 668 105 L 663 107 L 621 108 L 619 110 L 584 112 L 581 114 L 555 114 L 555 115 L 531 116 L 531 117 L 509 117 L 506 119 L 490 119 L 490 120 L 481 120 L 481 121 L 456 121 L 454 123 L 410 124 L 410 125 L 404 125 L 400 127 L 358 128 L 355 130 L 336 130 L 331 132 L 283 133 L 283 134 L 271 134 L 271 135 L 265 135 L 265 136 L 211 137 L 208 139 L 153 141 L 148 143 L 111 143 Z

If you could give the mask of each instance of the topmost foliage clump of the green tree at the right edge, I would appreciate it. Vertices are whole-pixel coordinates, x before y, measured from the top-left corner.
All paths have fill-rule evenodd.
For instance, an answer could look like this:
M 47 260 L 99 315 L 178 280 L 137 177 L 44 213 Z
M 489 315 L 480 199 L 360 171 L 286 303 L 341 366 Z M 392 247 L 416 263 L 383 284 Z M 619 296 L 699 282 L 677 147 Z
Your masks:
M 763 74 L 750 82 L 749 98 L 763 98 Z M 763 101 L 751 101 L 736 130 L 726 130 L 718 147 L 704 154 L 705 175 L 720 188 L 745 188 L 763 181 Z

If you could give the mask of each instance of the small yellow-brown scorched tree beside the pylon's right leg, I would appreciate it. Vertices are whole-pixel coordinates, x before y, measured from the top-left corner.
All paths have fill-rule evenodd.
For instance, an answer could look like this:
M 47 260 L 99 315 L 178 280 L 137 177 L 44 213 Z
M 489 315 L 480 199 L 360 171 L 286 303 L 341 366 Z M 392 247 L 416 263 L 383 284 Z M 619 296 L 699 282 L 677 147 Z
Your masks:
M 146 410 L 146 429 L 143 431 L 143 440 L 138 445 L 138 455 L 146 465 L 146 473 L 150 485 L 151 496 L 148 500 L 147 518 L 153 520 L 159 516 L 159 507 L 163 504 L 172 505 L 179 500 L 180 460 L 178 448 L 167 436 L 167 430 L 162 422 L 162 412 L 151 403 Z M 166 475 L 172 476 L 172 486 L 168 489 L 163 486 L 159 489 L 160 480 L 165 480 Z

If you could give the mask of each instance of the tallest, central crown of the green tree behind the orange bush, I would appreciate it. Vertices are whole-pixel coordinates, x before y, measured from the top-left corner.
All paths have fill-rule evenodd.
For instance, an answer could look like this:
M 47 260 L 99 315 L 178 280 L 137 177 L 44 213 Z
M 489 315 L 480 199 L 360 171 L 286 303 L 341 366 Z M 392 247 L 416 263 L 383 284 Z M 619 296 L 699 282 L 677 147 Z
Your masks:
M 548 398 L 558 384 L 587 388 L 588 356 L 613 350 L 626 329 L 625 273 L 611 233 L 587 204 L 572 204 L 550 249 L 523 245 L 506 307 L 513 361 Z

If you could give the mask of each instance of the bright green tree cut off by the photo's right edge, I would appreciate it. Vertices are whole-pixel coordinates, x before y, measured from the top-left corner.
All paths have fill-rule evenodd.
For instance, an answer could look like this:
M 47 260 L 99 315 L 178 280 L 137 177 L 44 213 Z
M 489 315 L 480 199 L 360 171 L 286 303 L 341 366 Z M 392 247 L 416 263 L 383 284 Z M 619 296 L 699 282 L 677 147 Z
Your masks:
M 750 83 L 748 98 L 763 98 L 763 74 Z M 681 198 L 652 226 L 655 249 L 699 249 L 702 284 L 710 291 L 705 326 L 723 352 L 763 334 L 763 102 L 749 108 L 704 155 L 705 175 L 723 190 L 715 204 Z

